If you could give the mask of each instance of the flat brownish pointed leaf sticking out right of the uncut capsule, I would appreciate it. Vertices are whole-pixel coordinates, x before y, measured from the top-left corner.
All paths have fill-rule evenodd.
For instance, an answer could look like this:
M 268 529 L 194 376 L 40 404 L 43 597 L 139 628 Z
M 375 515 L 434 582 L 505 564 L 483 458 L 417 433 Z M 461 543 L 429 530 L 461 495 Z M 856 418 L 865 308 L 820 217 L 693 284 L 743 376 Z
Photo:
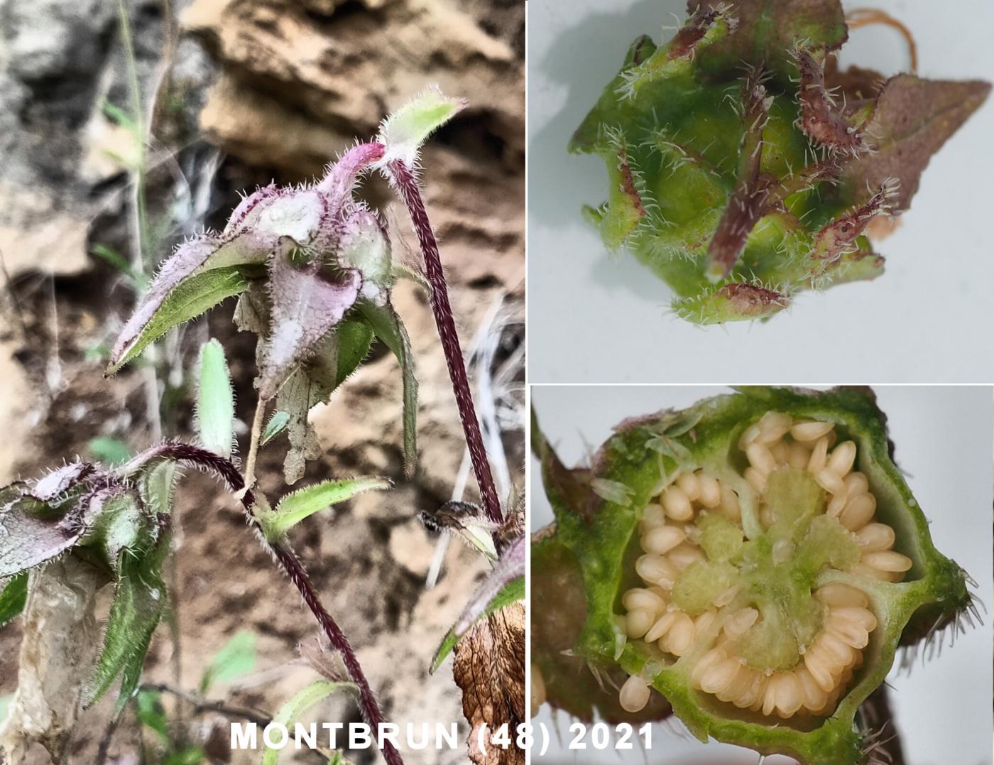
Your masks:
M 874 151 L 850 159 L 841 189 L 865 196 L 889 178 L 901 182 L 892 198 L 896 212 L 907 210 L 931 155 L 984 102 L 989 83 L 921 80 L 898 75 L 884 86 L 865 127 Z

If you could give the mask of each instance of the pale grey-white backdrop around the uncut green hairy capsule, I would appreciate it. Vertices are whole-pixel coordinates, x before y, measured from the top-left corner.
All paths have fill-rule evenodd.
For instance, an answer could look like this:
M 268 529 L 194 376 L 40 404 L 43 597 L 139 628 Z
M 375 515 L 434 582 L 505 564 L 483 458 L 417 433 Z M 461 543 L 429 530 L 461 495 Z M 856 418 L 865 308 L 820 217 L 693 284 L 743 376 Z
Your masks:
M 994 79 L 990 0 L 859 0 L 903 20 L 918 74 Z M 850 4 L 847 3 L 847 6 Z M 531 382 L 994 380 L 994 102 L 932 158 L 903 225 L 878 243 L 874 282 L 805 292 L 766 324 L 698 328 L 669 313 L 669 287 L 609 256 L 580 219 L 606 194 L 599 157 L 567 153 L 586 111 L 639 34 L 658 42 L 685 0 L 528 3 L 528 333 Z M 843 65 L 907 69 L 897 32 L 853 32 Z

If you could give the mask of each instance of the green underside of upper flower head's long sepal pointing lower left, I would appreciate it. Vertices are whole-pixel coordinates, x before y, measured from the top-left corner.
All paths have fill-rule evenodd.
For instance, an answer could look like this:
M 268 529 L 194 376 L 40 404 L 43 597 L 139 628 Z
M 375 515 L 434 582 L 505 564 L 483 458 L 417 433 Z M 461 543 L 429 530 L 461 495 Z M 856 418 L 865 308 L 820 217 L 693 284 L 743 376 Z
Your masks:
M 140 331 L 123 349 L 116 349 L 116 359 L 107 367 L 113 374 L 129 361 L 137 358 L 145 348 L 162 337 L 174 326 L 196 318 L 222 300 L 246 290 L 248 277 L 240 266 L 212 269 L 188 278 L 170 291 L 149 317 Z

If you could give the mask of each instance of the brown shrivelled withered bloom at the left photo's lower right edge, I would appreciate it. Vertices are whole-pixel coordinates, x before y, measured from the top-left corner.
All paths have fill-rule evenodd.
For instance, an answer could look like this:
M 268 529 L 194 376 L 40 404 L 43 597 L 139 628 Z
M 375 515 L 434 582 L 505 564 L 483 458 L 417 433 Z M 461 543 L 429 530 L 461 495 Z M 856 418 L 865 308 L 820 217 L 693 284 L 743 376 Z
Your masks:
M 524 765 L 517 727 L 525 716 L 525 605 L 515 603 L 477 622 L 455 648 L 452 669 L 462 688 L 462 713 L 471 727 L 469 759 L 476 765 Z M 490 735 L 507 724 L 511 745 L 481 752 L 480 727 Z

